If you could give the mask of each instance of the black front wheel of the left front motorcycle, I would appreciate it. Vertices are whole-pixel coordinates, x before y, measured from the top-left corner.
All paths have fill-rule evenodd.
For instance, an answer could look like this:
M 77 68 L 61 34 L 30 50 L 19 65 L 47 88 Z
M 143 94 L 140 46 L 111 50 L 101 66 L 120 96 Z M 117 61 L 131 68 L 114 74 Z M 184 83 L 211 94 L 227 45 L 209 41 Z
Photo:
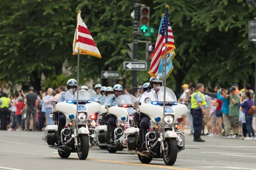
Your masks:
M 77 147 L 77 155 L 79 159 L 85 160 L 89 153 L 89 136 L 88 135 L 79 136 L 78 142 L 80 143 L 80 146 Z

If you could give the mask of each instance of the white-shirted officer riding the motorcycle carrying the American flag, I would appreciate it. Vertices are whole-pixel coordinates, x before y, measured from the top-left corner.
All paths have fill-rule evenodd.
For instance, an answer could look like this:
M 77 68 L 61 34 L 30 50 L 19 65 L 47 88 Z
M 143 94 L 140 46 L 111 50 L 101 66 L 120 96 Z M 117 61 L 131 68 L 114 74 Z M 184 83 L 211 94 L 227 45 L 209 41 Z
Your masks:
M 150 98 L 151 101 L 158 101 L 157 92 L 159 89 L 157 87 L 162 86 L 161 77 L 151 77 L 149 80 L 148 91 L 143 93 L 140 102 L 141 105 L 145 104 L 145 98 Z M 140 144 L 145 141 L 146 131 L 149 129 L 150 118 L 144 113 L 140 113 Z

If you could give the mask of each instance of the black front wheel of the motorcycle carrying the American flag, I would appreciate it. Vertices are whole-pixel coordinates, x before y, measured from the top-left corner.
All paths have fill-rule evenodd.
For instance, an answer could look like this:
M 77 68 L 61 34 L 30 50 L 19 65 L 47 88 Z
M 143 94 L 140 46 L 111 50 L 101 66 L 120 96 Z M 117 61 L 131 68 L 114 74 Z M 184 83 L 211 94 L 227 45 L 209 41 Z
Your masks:
M 178 154 L 178 146 L 176 138 L 166 138 L 164 141 L 164 147 L 166 150 L 163 154 L 163 161 L 166 165 L 173 165 L 176 162 Z

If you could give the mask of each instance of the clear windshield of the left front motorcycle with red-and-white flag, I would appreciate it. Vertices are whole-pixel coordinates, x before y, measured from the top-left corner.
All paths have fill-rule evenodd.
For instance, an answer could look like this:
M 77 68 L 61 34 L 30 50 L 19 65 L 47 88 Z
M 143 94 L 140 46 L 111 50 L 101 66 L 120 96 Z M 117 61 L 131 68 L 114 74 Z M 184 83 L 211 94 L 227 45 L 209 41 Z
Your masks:
M 66 100 L 76 100 L 77 98 L 77 91 L 73 92 L 73 89 L 69 89 L 65 94 Z M 86 90 L 80 90 L 78 92 L 78 99 L 79 100 L 90 100 L 90 94 Z

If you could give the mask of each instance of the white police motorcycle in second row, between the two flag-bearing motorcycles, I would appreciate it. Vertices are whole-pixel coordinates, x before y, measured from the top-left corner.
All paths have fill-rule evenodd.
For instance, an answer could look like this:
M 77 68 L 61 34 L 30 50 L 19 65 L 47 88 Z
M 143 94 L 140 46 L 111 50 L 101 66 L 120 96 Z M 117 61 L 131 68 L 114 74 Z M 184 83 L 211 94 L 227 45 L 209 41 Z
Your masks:
M 99 122 L 101 122 L 101 119 L 104 119 L 106 121 L 107 117 L 110 115 L 114 115 L 117 117 L 116 128 L 114 129 L 113 144 L 109 144 L 107 125 L 100 125 L 96 127 L 96 130 L 98 131 L 98 145 L 101 147 L 105 146 L 109 153 L 116 153 L 117 150 L 123 150 L 124 147 L 122 145 L 122 138 L 125 122 L 128 118 L 128 113 L 135 111 L 133 109 L 135 101 L 136 98 L 133 95 L 120 95 L 116 98 L 116 106 L 112 106 L 111 108 L 109 108 L 109 105 L 105 105 L 105 109 L 108 111 L 108 113 L 105 116 L 102 116 L 102 114 L 99 115 Z M 100 116 L 102 116 L 102 118 Z

